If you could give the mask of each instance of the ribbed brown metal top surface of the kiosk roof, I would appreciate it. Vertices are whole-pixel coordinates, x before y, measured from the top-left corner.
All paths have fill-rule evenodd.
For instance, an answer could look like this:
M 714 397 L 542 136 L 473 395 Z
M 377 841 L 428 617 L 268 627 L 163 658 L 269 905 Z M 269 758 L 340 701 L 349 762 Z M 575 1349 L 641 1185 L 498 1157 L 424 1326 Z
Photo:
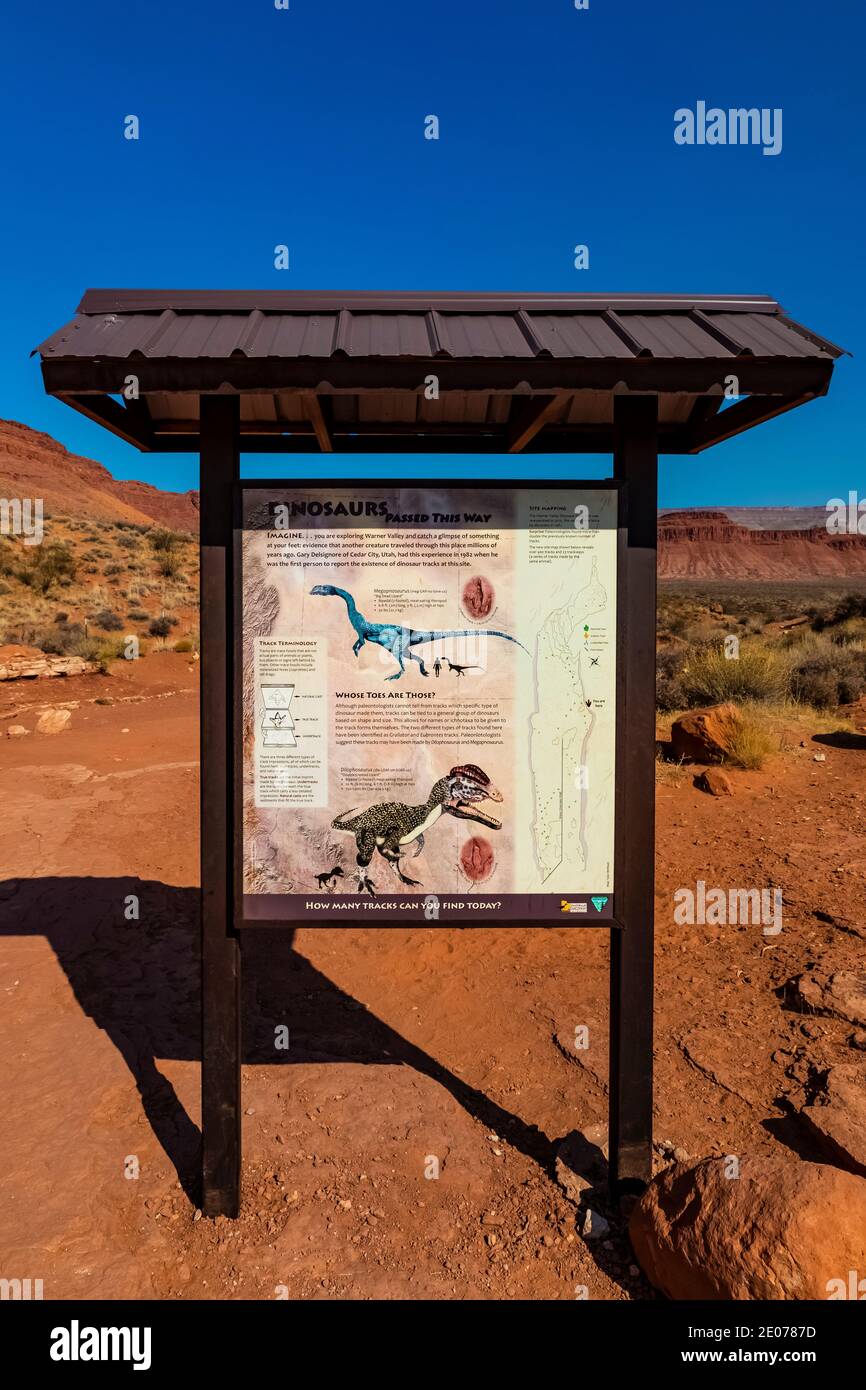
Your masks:
M 153 307 L 142 311 L 145 295 Z M 40 348 L 43 357 L 125 359 L 328 359 L 349 357 L 431 359 L 628 359 L 646 354 L 660 359 L 838 357 L 842 349 L 784 320 L 774 300 L 645 296 L 491 296 L 495 309 L 478 307 L 484 296 L 395 295 L 345 296 L 361 299 L 359 307 L 339 306 L 328 296 L 327 309 L 310 307 L 311 296 L 277 296 L 285 309 L 256 306 L 247 296 L 246 311 L 238 292 L 222 296 L 231 311 L 218 310 L 220 295 L 204 292 L 128 292 L 135 304 L 78 313 L 51 334 Z M 90 291 L 82 306 L 121 292 Z M 265 299 L 267 296 L 259 296 Z M 325 297 L 325 296 L 322 296 Z M 167 300 L 172 299 L 172 303 Z M 106 302 L 114 302 L 106 299 Z M 188 303 L 189 307 L 177 307 Z M 306 307 L 295 307 L 303 303 Z M 461 309 L 461 303 L 467 307 Z M 174 307 L 172 307 L 174 304 Z M 425 307 L 427 304 L 427 307 Z M 256 307 L 253 307 L 256 306 Z M 441 307 L 439 307 L 441 306 Z M 471 307 L 468 307 L 471 306 Z M 537 307 L 538 306 L 538 307 Z M 713 327 L 717 334 L 713 334 Z

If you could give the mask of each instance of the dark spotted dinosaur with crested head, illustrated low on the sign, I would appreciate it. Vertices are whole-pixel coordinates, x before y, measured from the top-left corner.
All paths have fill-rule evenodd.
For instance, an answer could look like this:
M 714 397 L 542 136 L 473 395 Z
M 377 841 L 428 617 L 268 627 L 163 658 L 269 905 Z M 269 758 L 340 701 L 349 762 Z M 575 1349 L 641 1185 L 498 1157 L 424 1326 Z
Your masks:
M 452 767 L 446 777 L 434 783 L 430 796 L 420 806 L 407 806 L 399 801 L 381 802 L 353 815 L 342 812 L 331 821 L 332 830 L 348 830 L 357 845 L 357 891 L 375 897 L 375 885 L 367 877 L 367 867 L 375 851 L 395 870 L 400 883 L 418 885 L 417 878 L 409 878 L 400 869 L 400 855 L 407 845 L 417 845 L 417 859 L 424 848 L 424 833 L 443 816 L 459 820 L 475 820 L 489 830 L 502 830 L 502 821 L 480 810 L 480 801 L 502 801 L 502 792 L 491 784 L 491 778 L 475 763 Z

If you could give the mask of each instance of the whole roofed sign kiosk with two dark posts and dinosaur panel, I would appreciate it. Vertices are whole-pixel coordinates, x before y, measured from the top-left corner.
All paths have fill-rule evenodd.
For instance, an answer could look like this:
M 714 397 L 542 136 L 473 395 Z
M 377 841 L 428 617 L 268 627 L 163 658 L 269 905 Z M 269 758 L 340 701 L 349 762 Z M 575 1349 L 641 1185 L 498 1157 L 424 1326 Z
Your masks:
M 89 291 L 39 352 L 51 395 L 202 459 L 204 1212 L 239 1209 L 245 924 L 609 929 L 610 1183 L 639 1188 L 657 455 L 824 395 L 841 349 L 765 296 Z M 242 484 L 242 452 L 613 477 Z

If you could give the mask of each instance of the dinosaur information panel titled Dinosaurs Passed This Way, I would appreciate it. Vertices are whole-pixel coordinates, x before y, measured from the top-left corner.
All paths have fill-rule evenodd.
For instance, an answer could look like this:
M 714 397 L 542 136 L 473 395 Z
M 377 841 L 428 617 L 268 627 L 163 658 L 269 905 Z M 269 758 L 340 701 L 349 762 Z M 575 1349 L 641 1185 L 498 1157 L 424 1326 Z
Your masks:
M 610 923 L 617 505 L 242 488 L 247 923 Z

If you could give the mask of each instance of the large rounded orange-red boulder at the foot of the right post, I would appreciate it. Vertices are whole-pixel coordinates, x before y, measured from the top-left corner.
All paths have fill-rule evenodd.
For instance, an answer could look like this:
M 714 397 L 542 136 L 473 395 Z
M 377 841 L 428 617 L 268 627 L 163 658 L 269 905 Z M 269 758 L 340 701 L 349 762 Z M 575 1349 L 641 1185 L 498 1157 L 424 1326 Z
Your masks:
M 628 1233 L 644 1273 L 669 1298 L 826 1300 L 866 1268 L 866 1182 L 790 1155 L 726 1158 L 659 1173 Z

